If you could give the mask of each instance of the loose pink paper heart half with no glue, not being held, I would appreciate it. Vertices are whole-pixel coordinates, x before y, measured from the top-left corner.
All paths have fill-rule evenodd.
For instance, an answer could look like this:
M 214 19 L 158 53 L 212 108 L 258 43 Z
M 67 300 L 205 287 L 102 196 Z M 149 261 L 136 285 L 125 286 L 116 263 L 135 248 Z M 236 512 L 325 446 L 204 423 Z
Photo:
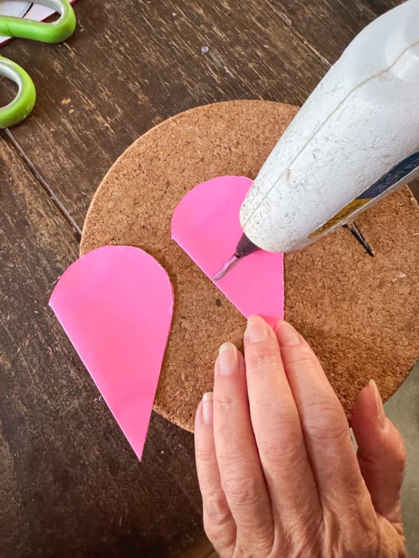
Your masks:
M 172 322 L 168 274 L 139 248 L 103 246 L 66 270 L 50 306 L 141 460 Z

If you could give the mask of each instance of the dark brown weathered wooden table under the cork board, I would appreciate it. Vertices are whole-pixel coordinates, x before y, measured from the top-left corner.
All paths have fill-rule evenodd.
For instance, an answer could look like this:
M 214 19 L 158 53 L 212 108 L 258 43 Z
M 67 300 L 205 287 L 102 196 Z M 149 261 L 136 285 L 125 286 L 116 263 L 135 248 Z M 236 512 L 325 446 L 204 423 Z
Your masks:
M 47 301 L 98 183 L 139 135 L 227 99 L 301 104 L 397 0 L 80 0 L 0 135 L 0 557 L 173 557 L 202 534 L 193 437 L 153 415 L 140 464 Z M 201 47 L 207 45 L 203 54 Z M 11 97 L 1 82 L 3 103 Z

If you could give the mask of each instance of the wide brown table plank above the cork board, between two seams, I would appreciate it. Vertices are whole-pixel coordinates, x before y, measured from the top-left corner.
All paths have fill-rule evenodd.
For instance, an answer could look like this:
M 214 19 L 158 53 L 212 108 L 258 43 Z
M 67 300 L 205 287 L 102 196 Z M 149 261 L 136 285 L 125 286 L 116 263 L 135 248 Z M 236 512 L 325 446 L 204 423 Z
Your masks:
M 80 0 L 76 10 L 63 45 L 2 53 L 30 68 L 38 93 L 13 135 L 78 227 L 115 158 L 154 124 L 233 98 L 301 105 L 325 73 L 264 2 Z

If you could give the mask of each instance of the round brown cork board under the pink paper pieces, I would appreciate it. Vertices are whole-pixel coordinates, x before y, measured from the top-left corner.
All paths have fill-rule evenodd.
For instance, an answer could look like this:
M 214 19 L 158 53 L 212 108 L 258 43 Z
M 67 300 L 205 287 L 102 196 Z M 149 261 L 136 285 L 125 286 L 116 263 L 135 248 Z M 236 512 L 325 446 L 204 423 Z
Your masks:
M 140 137 L 112 166 L 87 214 L 81 255 L 138 246 L 168 271 L 175 311 L 154 409 L 187 430 L 212 389 L 219 345 L 246 320 L 170 239 L 172 211 L 196 184 L 254 178 L 297 107 L 260 100 L 189 110 Z M 374 378 L 384 399 L 419 355 L 419 210 L 408 188 L 357 221 L 376 255 L 341 229 L 285 257 L 286 319 L 314 347 L 348 417 Z

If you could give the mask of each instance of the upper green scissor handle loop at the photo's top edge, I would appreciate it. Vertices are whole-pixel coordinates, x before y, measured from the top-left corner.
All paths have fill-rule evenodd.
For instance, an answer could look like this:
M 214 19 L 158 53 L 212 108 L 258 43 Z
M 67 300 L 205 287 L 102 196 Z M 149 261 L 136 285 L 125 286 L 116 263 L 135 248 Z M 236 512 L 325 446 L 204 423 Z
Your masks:
M 0 34 L 10 37 L 41 40 L 43 43 L 61 43 L 75 30 L 75 15 L 69 0 L 36 0 L 37 4 L 60 14 L 52 23 L 34 22 L 22 17 L 0 16 Z

